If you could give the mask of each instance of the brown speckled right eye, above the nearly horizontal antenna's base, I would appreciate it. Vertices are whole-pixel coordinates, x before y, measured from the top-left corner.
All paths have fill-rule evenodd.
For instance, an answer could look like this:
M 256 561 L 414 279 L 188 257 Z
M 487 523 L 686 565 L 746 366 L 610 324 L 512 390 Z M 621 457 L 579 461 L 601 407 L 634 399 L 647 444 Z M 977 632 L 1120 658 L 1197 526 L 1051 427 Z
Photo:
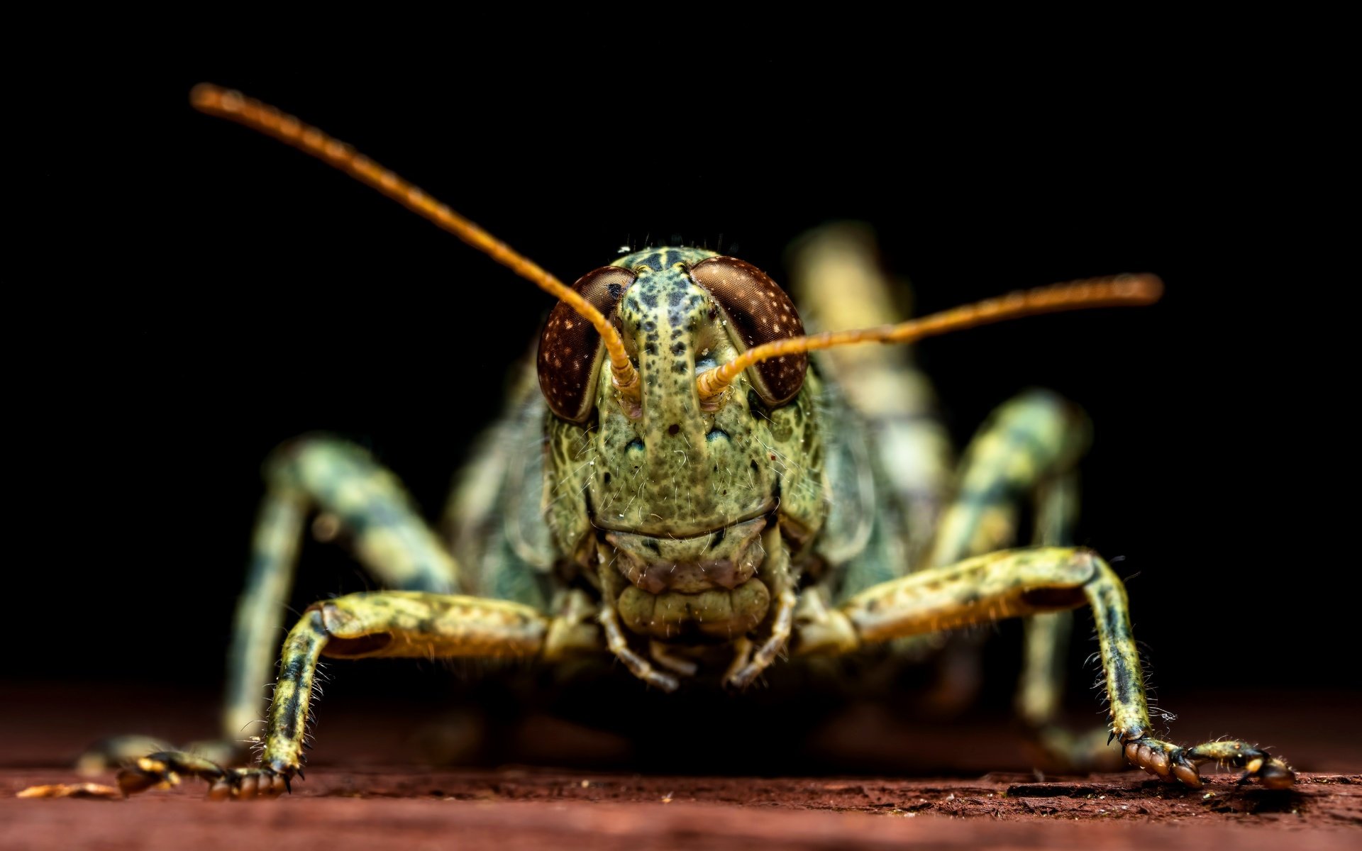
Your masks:
M 804 336 L 794 302 L 771 278 L 737 257 L 710 257 L 691 267 L 691 278 L 718 302 L 733 344 L 753 346 Z M 805 354 L 787 354 L 753 365 L 748 373 L 761 400 L 775 407 L 794 399 L 809 366 Z

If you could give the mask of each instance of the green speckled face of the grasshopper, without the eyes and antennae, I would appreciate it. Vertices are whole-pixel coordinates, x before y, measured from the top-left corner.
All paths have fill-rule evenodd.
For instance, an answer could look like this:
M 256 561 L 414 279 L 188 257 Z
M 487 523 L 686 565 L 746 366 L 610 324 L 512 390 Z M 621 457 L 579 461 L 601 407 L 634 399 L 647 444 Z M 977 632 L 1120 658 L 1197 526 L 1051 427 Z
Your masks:
M 549 417 L 545 478 L 554 538 L 588 572 L 598 536 L 613 547 L 633 585 L 621 596 L 621 617 L 635 632 L 654 635 L 654 602 L 697 606 L 693 620 L 708 633 L 746 632 L 768 602 L 749 587 L 760 584 L 752 577 L 764 553 L 761 530 L 775 513 L 783 531 L 804 541 L 825 512 L 813 376 L 775 408 L 746 376 L 716 410 L 700 407 L 697 370 L 741 353 L 725 310 L 689 272 L 712 256 L 665 248 L 617 261 L 636 275 L 616 312 L 639 366 L 642 411 L 629 415 L 601 369 L 594 421 Z M 710 600 L 715 592 L 723 599 Z M 669 622 L 655 637 L 673 637 L 674 628 Z

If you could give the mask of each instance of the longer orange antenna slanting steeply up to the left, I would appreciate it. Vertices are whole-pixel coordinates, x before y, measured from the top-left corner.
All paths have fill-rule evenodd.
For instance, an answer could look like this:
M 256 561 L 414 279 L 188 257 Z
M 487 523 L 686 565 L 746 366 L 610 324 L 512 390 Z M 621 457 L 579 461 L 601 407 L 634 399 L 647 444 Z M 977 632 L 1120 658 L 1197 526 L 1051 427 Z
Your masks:
M 610 320 L 591 306 L 582 295 L 564 286 L 561 280 L 539 268 L 528 257 L 524 257 L 501 240 L 497 240 L 471 221 L 449 210 L 449 207 L 430 197 L 418 187 L 411 185 L 364 154 L 360 154 L 349 144 L 339 139 L 332 139 L 317 128 L 304 124 L 298 118 L 279 112 L 268 103 L 262 103 L 255 98 L 245 97 L 240 91 L 230 91 L 211 83 L 199 83 L 195 86 L 189 93 L 189 103 L 199 112 L 245 124 L 251 129 L 274 136 L 279 142 L 291 144 L 340 169 L 360 182 L 383 192 L 407 210 L 448 230 L 554 298 L 567 302 L 568 306 L 595 327 L 605 342 L 606 351 L 610 354 L 614 385 L 633 402 L 640 399 L 639 372 L 629 361 L 629 355 L 624 350 L 624 340 L 620 339 L 620 334 L 610 324 Z

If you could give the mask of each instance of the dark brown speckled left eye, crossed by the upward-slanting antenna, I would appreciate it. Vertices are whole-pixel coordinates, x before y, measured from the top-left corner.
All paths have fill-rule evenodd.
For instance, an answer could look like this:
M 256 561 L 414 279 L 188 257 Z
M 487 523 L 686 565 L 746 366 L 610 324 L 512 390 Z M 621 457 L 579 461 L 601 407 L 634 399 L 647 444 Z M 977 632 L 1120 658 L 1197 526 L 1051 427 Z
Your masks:
M 572 289 L 610 316 L 633 278 L 629 270 L 607 266 L 577 278 Z M 550 411 L 569 422 L 586 422 L 591 417 L 603 349 L 590 321 L 561 301 L 554 305 L 539 335 L 538 358 L 539 389 Z

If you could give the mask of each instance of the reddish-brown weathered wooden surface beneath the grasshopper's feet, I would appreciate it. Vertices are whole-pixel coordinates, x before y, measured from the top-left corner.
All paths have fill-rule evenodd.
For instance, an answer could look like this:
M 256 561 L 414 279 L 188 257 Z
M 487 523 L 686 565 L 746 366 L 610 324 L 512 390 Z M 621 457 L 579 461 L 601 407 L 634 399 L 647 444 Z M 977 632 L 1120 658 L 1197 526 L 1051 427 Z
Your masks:
M 211 803 L 202 786 L 121 802 L 20 801 L 50 772 L 0 775 L 5 848 L 1355 848 L 1362 776 L 1294 792 L 1201 791 L 1096 775 L 1039 783 L 884 777 L 658 777 L 560 772 L 319 771 L 281 801 Z

